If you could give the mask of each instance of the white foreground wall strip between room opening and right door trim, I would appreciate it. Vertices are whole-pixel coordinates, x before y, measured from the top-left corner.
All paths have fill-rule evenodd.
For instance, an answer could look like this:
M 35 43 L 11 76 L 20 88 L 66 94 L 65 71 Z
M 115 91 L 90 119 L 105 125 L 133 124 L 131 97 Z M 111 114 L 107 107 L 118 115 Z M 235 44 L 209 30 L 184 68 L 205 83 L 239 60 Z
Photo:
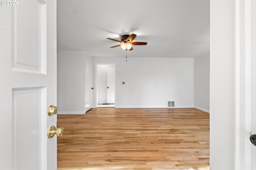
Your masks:
M 234 0 L 210 1 L 210 169 L 234 170 Z

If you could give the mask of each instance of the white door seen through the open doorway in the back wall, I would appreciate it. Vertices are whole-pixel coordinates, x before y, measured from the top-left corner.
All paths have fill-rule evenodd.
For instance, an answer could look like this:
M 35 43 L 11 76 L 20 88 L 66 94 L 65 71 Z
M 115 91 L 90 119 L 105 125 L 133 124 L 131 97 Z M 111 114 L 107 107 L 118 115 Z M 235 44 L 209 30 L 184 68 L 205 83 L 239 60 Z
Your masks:
M 107 68 L 107 103 L 115 103 L 115 68 Z

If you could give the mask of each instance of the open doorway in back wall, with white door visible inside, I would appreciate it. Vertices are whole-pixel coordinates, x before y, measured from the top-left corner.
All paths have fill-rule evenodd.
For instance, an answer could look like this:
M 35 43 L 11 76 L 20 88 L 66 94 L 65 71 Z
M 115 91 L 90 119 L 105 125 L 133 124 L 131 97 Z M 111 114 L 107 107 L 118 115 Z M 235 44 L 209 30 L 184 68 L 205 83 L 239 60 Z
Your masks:
M 97 107 L 115 107 L 115 64 L 96 64 Z

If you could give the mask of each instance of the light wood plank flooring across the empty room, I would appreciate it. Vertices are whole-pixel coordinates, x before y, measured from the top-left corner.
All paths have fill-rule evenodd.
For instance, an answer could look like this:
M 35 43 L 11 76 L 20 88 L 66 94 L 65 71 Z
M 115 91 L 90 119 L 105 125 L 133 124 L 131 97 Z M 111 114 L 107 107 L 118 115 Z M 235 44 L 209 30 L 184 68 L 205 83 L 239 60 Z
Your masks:
M 209 170 L 209 113 L 96 108 L 58 115 L 58 169 Z

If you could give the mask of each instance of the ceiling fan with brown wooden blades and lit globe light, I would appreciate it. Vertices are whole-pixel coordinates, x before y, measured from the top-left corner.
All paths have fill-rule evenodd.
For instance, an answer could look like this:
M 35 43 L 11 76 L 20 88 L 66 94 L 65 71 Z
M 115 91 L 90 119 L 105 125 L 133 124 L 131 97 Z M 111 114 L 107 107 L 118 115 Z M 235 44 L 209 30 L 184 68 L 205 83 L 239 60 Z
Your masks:
M 133 49 L 132 49 L 132 46 L 133 46 L 133 45 L 147 45 L 146 42 L 132 42 L 136 36 L 137 36 L 136 34 L 132 34 L 132 35 L 123 35 L 123 36 L 120 38 L 121 41 L 119 41 L 119 40 L 117 40 L 117 39 L 112 39 L 112 38 L 107 38 L 107 39 L 110 39 L 110 40 L 117 41 L 117 42 L 121 43 L 121 44 L 119 44 L 119 45 L 115 45 L 115 46 L 110 47 L 110 48 L 114 48 L 114 47 L 119 47 L 119 46 L 121 46 L 122 49 L 124 49 L 124 50 L 126 50 L 126 51 L 127 51 L 127 50 L 130 50 L 130 51 L 131 51 L 131 50 L 133 50 Z

